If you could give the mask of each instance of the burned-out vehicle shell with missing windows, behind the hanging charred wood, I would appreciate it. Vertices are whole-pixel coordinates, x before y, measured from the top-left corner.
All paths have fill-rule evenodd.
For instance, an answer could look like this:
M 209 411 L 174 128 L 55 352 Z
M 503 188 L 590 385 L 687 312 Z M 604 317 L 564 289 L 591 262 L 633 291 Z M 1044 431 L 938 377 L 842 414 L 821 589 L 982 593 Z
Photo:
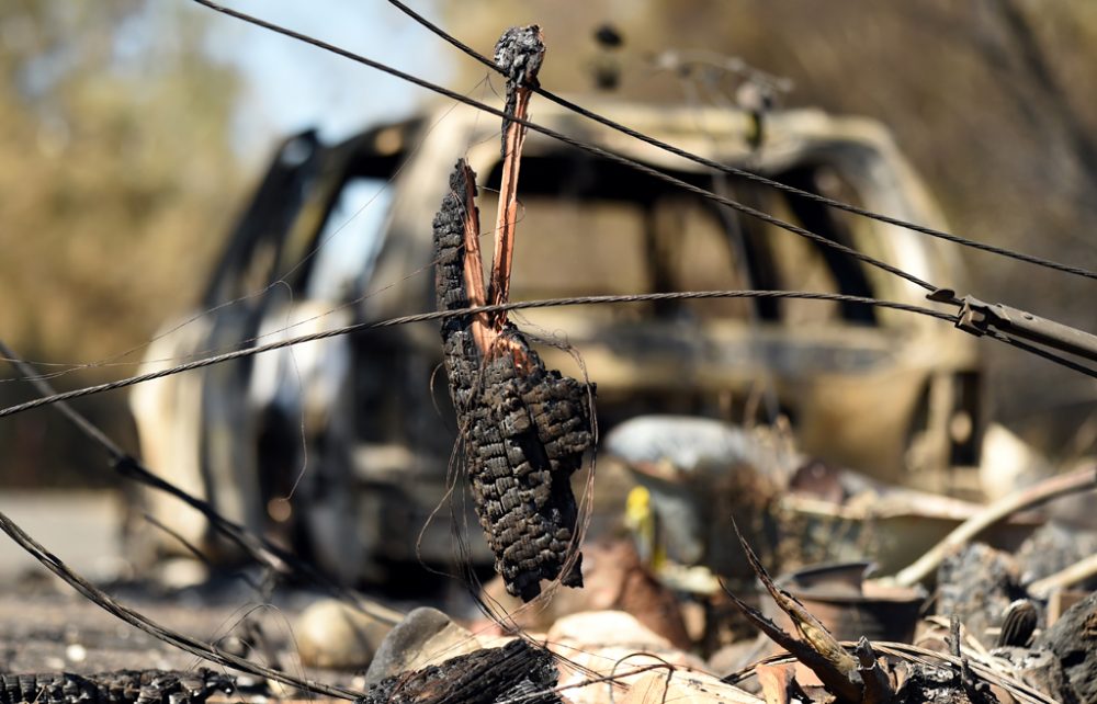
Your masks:
M 887 133 L 815 110 L 767 116 L 766 139 L 730 110 L 588 102 L 691 152 L 905 220 L 939 227 Z M 799 224 L 935 281 L 963 284 L 937 240 L 856 218 L 691 162 L 535 102 L 533 120 Z M 439 109 L 324 145 L 286 140 L 228 240 L 199 310 L 147 368 L 433 308 L 431 217 L 463 157 L 495 209 L 498 124 Z M 924 292 L 833 249 L 530 133 L 511 299 L 711 289 L 801 289 L 928 305 Z M 658 300 L 512 314 L 552 368 L 597 383 L 604 432 L 647 413 L 784 419 L 806 453 L 924 489 L 970 489 L 979 463 L 980 360 L 940 321 L 851 302 Z M 192 319 L 193 318 L 193 319 Z M 464 520 L 437 323 L 332 337 L 140 385 L 146 463 L 225 515 L 280 535 L 330 574 L 381 579 L 446 564 Z M 782 421 L 784 422 L 784 421 Z M 452 490 L 451 490 L 452 488 Z M 212 555 L 201 516 L 146 510 Z M 456 511 L 446 508 L 456 506 Z M 473 522 L 470 522 L 473 524 Z M 135 549 L 180 552 L 135 531 Z M 475 531 L 468 554 L 489 561 Z

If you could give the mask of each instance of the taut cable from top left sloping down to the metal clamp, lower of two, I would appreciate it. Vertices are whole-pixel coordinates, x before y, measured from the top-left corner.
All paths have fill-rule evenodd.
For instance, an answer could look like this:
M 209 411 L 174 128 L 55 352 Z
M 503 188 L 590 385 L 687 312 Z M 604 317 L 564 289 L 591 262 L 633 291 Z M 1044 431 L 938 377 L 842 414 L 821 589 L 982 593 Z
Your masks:
M 439 95 L 443 95 L 443 96 L 445 96 L 445 98 L 448 98 L 450 100 L 454 100 L 454 101 L 464 103 L 466 105 L 470 105 L 472 107 L 475 107 L 477 110 L 480 110 L 483 112 L 496 115 L 497 117 L 500 117 L 502 120 L 508 120 L 510 122 L 518 123 L 518 124 L 527 127 L 528 129 L 532 129 L 533 132 L 541 133 L 541 134 L 543 134 L 543 135 L 545 135 L 547 137 L 551 137 L 553 139 L 556 139 L 557 141 L 561 141 L 561 143 L 566 144 L 568 146 L 572 146 L 572 147 L 575 147 L 575 148 L 580 149 L 583 151 L 586 151 L 587 154 L 593 155 L 593 156 L 596 156 L 596 157 L 598 157 L 600 159 L 604 159 L 604 160 L 612 161 L 614 163 L 619 163 L 621 166 L 627 167 L 627 168 L 633 169 L 635 171 L 638 171 L 638 172 L 641 172 L 641 173 L 643 173 L 645 175 L 652 177 L 652 178 L 657 179 L 659 181 L 663 181 L 665 183 L 669 183 L 670 185 L 674 185 L 675 188 L 681 189 L 681 190 L 687 191 L 689 193 L 693 193 L 694 195 L 698 195 L 700 197 L 703 197 L 703 198 L 706 198 L 709 201 L 713 201 L 715 203 L 720 203 L 722 205 L 731 207 L 731 208 L 733 208 L 735 211 L 738 211 L 739 213 L 743 213 L 744 215 L 748 215 L 750 217 L 759 219 L 759 220 L 761 220 L 764 223 L 767 223 L 769 225 L 772 225 L 774 227 L 779 227 L 779 228 L 781 228 L 783 230 L 788 230 L 788 231 L 793 232 L 795 235 L 799 235 L 801 237 L 805 237 L 805 238 L 807 238 L 807 239 L 810 239 L 810 240 L 812 240 L 814 242 L 817 242 L 817 243 L 822 245 L 823 247 L 829 247 L 829 248 L 832 248 L 834 250 L 840 251 L 844 254 L 846 254 L 848 257 L 852 257 L 853 259 L 856 259 L 856 260 L 858 260 L 858 261 L 860 261 L 860 262 L 862 262 L 864 264 L 868 264 L 870 266 L 875 266 L 877 269 L 885 271 L 885 272 L 887 272 L 890 274 L 893 274 L 893 275 L 898 276 L 901 279 L 905 279 L 906 281 L 908 281 L 908 282 L 915 284 L 916 286 L 919 286 L 919 287 L 921 287 L 921 288 L 924 288 L 924 289 L 926 289 L 928 292 L 932 293 L 932 292 L 938 291 L 940 288 L 939 286 L 935 286 L 934 284 L 931 284 L 931 283 L 929 283 L 929 282 L 927 282 L 927 281 L 925 281 L 923 279 L 919 279 L 918 276 L 915 276 L 914 274 L 912 274 L 909 272 L 903 271 L 902 269 L 900 269 L 897 266 L 893 266 L 893 265 L 891 265 L 891 264 L 889 264 L 886 262 L 883 262 L 883 261 L 881 261 L 881 260 L 879 260 L 879 259 L 877 259 L 874 257 L 870 257 L 869 254 L 864 254 L 862 252 L 859 252 L 859 251 L 857 251 L 856 249 L 853 249 L 851 247 L 847 247 L 845 245 L 840 245 L 838 242 L 835 242 L 835 241 L 833 241 L 833 240 L 830 240 L 830 239 L 828 239 L 826 237 L 823 237 L 821 235 L 812 232 L 811 230 L 807 230 L 807 229 L 805 229 L 803 227 L 800 227 L 798 225 L 793 225 L 791 223 L 785 223 L 784 220 L 782 220 L 780 218 L 777 218 L 777 217 L 773 217 L 772 215 L 769 215 L 768 213 L 764 213 L 764 212 L 758 211 L 756 208 L 753 208 L 753 207 L 750 207 L 748 205 L 744 205 L 743 203 L 739 203 L 737 201 L 733 201 L 731 198 L 717 195 L 717 194 L 713 193 L 712 191 L 708 191 L 705 189 L 702 189 L 700 186 L 693 185 L 691 183 L 687 183 L 686 181 L 682 181 L 681 179 L 676 179 L 675 177 L 671 177 L 671 175 L 669 175 L 667 173 L 664 173 L 663 171 L 659 171 L 658 169 L 653 169 L 652 167 L 648 167 L 648 166 L 646 166 L 646 164 L 644 164 L 644 163 L 642 163 L 640 161 L 636 161 L 634 159 L 630 159 L 629 157 L 619 155 L 619 154 L 617 154 L 614 151 L 610 151 L 608 149 L 602 149 L 601 147 L 597 147 L 595 145 L 587 144 L 587 143 L 580 140 L 580 139 L 576 139 L 574 137 L 569 137 L 569 136 L 567 136 L 567 135 L 565 135 L 565 134 L 563 134 L 561 132 L 556 132 L 555 129 L 552 129 L 550 127 L 545 127 L 544 125 L 540 125 L 540 124 L 531 122 L 529 120 L 522 120 L 520 117 L 516 117 L 514 115 L 508 115 L 507 113 L 505 113 L 504 111 L 501 111 L 501 110 L 499 110 L 497 107 L 493 107 L 491 105 L 487 105 L 485 103 L 482 103 L 482 102 L 479 102 L 477 100 L 468 98 L 467 95 L 462 95 L 461 93 L 452 91 L 452 90 L 450 90 L 448 88 L 444 88 L 442 86 L 438 86 L 437 83 L 431 83 L 430 81 L 425 80 L 422 78 L 419 78 L 418 76 L 412 76 L 411 73 L 407 73 L 405 71 L 402 71 L 402 70 L 399 70 L 397 68 L 394 68 L 394 67 L 388 66 L 386 64 L 383 64 L 381 61 L 376 61 L 374 59 L 366 58 L 366 57 L 364 57 L 364 56 L 362 56 L 360 54 L 354 54 L 353 52 L 350 52 L 350 50 L 344 49 L 342 47 L 339 47 L 339 46 L 336 46 L 333 44 L 329 44 L 327 42 L 324 42 L 321 39 L 317 39 L 315 37 L 308 36 L 307 34 L 303 34 L 301 32 L 296 32 L 294 30 L 290 30 L 290 29 L 283 27 L 281 25 L 273 24 L 271 22 L 268 22 L 265 20 L 262 20 L 260 18 L 257 18 L 257 16 L 244 13 L 244 12 L 238 12 L 236 10 L 231 10 L 229 8 L 225 8 L 223 5 L 217 4 L 216 2 L 212 2 L 212 0 L 194 0 L 194 2 L 196 2 L 196 3 L 201 4 L 201 5 L 207 7 L 207 8 L 212 9 L 212 10 L 217 11 L 217 12 L 220 12 L 223 14 L 226 14 L 228 16 L 241 20 L 244 22 L 248 22 L 249 24 L 253 24 L 256 26 L 263 27 L 264 30 L 269 30 L 271 32 L 276 32 L 278 34 L 282 34 L 284 36 L 289 36 L 291 38 L 294 38 L 294 39 L 297 39 L 299 42 L 304 42 L 306 44 L 315 46 L 317 48 L 321 48 L 321 49 L 325 49 L 327 52 L 331 52 L 332 54 L 337 54 L 339 56 L 342 56 L 344 58 L 349 58 L 349 59 L 351 59 L 353 61 L 357 61 L 359 64 L 362 64 L 364 66 L 369 66 L 369 67 L 371 67 L 371 68 L 373 68 L 375 70 L 382 71 L 384 73 L 388 73 L 389 76 L 394 76 L 396 78 L 399 78 L 400 80 L 407 81 L 407 82 L 412 83 L 415 86 L 419 86 L 420 88 L 425 88 L 425 89 L 427 89 L 427 90 L 429 90 L 431 92 L 438 93 Z M 1095 276 L 1097 276 L 1097 275 L 1095 275 Z M 959 303 L 959 302 L 957 302 L 957 303 Z

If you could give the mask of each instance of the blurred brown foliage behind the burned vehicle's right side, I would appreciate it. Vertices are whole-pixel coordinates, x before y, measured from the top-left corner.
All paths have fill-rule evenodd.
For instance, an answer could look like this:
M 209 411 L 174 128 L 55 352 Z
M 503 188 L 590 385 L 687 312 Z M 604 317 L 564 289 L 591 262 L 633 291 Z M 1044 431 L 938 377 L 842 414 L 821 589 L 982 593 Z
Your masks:
M 668 50 L 738 57 L 788 77 L 794 89 L 784 106 L 868 115 L 891 127 L 954 231 L 1097 269 L 1092 0 L 588 0 L 581 12 L 553 0 L 470 0 L 445 19 L 484 53 L 504 27 L 525 23 L 544 29 L 541 79 L 554 91 L 590 91 L 600 50 L 615 52 L 623 67 L 617 94 L 627 99 L 734 98 L 733 76 L 709 88 L 694 81 L 691 95 L 697 76 L 668 70 L 659 60 Z M 607 23 L 623 37 L 620 49 L 599 49 L 595 35 Z M 531 110 L 535 118 L 535 100 Z M 1097 332 L 1092 281 L 964 256 L 972 281 L 961 287 Z M 1076 373 L 985 347 L 1007 421 L 1040 420 L 1036 428 L 1071 419 L 1071 430 L 1079 413 L 1061 410 L 1094 413 L 1097 389 Z M 1060 440 L 1043 433 L 1051 451 L 1062 450 Z

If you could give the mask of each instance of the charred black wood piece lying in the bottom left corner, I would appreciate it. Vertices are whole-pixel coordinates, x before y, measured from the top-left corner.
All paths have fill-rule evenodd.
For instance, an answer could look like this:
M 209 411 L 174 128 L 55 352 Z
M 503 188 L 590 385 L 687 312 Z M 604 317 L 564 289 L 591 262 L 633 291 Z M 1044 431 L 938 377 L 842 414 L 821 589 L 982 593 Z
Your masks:
M 233 689 L 233 678 L 206 669 L 0 674 L 0 704 L 202 704 Z

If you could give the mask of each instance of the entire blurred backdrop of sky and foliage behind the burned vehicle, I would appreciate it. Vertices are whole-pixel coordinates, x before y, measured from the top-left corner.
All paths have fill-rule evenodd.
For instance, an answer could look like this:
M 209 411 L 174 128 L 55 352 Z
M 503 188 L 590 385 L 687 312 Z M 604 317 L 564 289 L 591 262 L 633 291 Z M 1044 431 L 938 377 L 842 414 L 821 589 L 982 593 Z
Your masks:
M 483 67 L 381 0 L 229 4 L 459 92 L 493 90 Z M 411 4 L 484 53 L 506 26 L 540 23 L 543 83 L 579 95 L 597 72 L 619 70 L 623 96 L 720 104 L 722 78 L 683 76 L 670 59 L 742 58 L 789 79 L 784 105 L 885 123 L 954 231 L 1097 268 L 1087 0 Z M 620 49 L 595 42 L 604 25 Z M 55 378 L 59 388 L 133 373 L 157 327 L 194 305 L 280 139 L 310 127 L 343 139 L 437 100 L 190 0 L 0 4 L 0 337 L 63 365 L 43 371 L 97 364 Z M 1097 329 L 1092 281 L 963 256 L 972 276 L 955 282 L 961 293 Z M 989 352 L 1004 422 L 1058 456 L 1092 451 L 1092 379 Z M 29 394 L 0 385 L 4 406 Z M 133 446 L 123 394 L 80 408 Z M 99 451 L 48 409 L 0 421 L 0 485 L 111 481 Z

